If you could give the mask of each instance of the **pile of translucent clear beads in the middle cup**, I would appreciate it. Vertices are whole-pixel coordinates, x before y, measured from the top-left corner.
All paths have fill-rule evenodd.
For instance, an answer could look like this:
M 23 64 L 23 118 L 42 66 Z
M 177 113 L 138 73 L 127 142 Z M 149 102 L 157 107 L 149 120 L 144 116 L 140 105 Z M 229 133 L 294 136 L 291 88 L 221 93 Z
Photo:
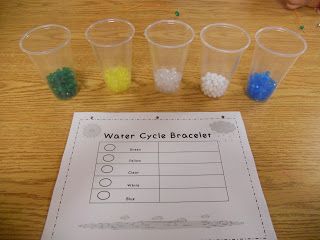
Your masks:
M 179 89 L 182 74 L 176 68 L 160 68 L 154 72 L 157 89 L 164 93 L 173 93 Z

